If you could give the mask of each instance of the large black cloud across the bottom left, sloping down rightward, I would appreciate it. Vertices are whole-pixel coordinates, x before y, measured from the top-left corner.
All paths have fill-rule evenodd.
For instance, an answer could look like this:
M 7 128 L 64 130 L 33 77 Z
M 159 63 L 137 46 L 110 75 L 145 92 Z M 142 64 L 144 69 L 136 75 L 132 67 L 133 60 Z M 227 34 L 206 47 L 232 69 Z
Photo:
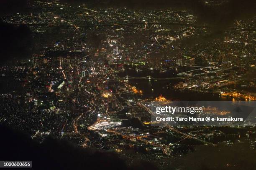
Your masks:
M 28 135 L 0 126 L 0 160 L 32 161 L 35 170 L 148 170 L 151 164 L 128 166 L 112 152 L 84 149 L 65 140 L 47 138 L 39 144 Z

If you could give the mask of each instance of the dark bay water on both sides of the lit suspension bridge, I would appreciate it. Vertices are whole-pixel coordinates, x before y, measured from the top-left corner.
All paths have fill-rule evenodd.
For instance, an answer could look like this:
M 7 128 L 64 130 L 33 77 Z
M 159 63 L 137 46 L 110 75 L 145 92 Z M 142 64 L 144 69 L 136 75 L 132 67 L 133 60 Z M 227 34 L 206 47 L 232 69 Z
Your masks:
M 154 78 L 170 78 L 176 77 L 175 70 L 160 72 L 159 70 L 136 71 L 136 69 L 125 68 L 123 72 L 119 72 L 120 77 L 126 75 L 131 77 L 146 77 L 151 75 Z M 128 79 L 128 84 L 135 86 L 138 90 L 143 91 L 144 98 L 156 98 L 163 95 L 167 100 L 232 100 L 232 98 L 220 96 L 217 94 L 200 93 L 200 92 L 181 92 L 172 87 L 179 82 L 186 82 L 185 79 L 171 80 L 148 80 L 148 79 Z

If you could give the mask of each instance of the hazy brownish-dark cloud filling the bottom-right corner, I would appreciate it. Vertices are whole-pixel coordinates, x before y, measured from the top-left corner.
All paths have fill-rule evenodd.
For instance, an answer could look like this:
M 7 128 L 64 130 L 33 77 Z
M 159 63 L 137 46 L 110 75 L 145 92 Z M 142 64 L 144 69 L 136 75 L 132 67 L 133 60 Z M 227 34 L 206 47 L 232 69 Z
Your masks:
M 246 143 L 199 146 L 173 166 L 186 170 L 255 170 L 255 155 L 256 151 Z

